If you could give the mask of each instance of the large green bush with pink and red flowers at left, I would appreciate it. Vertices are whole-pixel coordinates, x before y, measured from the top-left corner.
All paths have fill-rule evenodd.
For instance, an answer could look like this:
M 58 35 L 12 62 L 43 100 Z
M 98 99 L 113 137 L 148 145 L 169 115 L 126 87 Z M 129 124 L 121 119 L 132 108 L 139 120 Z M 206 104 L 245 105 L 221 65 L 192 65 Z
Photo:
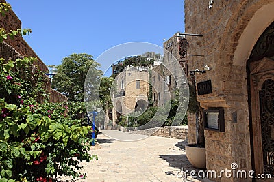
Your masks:
M 79 161 L 89 162 L 90 126 L 72 119 L 75 107 L 49 103 L 35 59 L 0 59 L 0 181 L 55 181 L 57 174 L 79 177 Z M 40 104 L 40 102 L 42 104 Z

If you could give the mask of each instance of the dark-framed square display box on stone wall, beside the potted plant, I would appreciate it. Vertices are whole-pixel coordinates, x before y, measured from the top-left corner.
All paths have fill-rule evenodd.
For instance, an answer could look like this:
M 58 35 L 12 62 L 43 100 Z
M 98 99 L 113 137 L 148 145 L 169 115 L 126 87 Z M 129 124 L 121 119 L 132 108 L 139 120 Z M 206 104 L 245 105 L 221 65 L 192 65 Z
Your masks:
M 205 129 L 225 132 L 225 116 L 223 108 L 209 108 L 204 111 Z

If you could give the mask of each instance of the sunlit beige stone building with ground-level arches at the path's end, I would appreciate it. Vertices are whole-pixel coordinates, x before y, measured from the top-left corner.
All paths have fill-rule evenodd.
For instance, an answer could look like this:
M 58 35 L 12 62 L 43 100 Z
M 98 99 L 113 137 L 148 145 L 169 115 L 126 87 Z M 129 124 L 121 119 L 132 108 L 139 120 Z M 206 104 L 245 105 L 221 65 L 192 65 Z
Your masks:
M 114 80 L 113 124 L 121 115 L 145 112 L 148 106 L 150 67 L 127 66 Z

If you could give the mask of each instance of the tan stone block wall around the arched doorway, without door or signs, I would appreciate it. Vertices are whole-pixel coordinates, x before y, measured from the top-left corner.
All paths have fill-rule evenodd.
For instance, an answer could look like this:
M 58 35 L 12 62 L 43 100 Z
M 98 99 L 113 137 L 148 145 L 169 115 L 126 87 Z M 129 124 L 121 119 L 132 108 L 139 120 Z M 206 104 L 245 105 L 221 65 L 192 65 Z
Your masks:
M 188 57 L 189 70 L 203 70 L 206 65 L 211 67 L 206 74 L 196 74 L 195 78 L 197 83 L 211 80 L 212 93 L 199 95 L 197 99 L 205 110 L 212 107 L 222 107 L 225 110 L 225 132 L 205 131 L 208 170 L 229 169 L 232 162 L 236 162 L 240 170 L 252 169 L 246 71 L 249 55 L 240 60 L 242 64 L 236 64 L 235 51 L 240 44 L 242 33 L 256 16 L 256 12 L 273 2 L 214 1 L 212 9 L 209 9 L 208 1 L 185 1 L 186 33 L 203 35 L 203 37 L 186 37 L 189 42 L 188 53 L 203 55 Z M 266 15 L 262 16 L 261 21 L 273 22 L 274 18 L 268 16 L 269 12 L 262 14 Z M 254 39 L 256 42 L 266 27 L 261 27 L 260 31 L 254 31 L 256 28 L 251 27 L 252 36 L 249 39 Z M 251 47 L 252 50 L 254 44 L 245 46 Z M 237 123 L 232 123 L 234 113 L 237 114 Z M 189 125 L 189 127 L 194 126 Z M 189 131 L 194 132 L 190 128 Z M 193 135 L 192 132 L 189 136 Z M 236 180 L 250 181 L 217 179 L 217 181 Z

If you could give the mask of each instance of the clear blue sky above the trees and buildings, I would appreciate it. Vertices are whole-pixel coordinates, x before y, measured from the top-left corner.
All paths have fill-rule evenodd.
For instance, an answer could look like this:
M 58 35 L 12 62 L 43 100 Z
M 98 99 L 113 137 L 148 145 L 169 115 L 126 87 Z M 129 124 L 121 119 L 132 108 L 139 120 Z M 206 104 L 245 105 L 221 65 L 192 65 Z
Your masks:
M 72 53 L 96 59 L 125 42 L 162 46 L 164 38 L 184 32 L 184 0 L 6 1 L 22 28 L 32 29 L 24 38 L 46 65 L 60 65 Z

